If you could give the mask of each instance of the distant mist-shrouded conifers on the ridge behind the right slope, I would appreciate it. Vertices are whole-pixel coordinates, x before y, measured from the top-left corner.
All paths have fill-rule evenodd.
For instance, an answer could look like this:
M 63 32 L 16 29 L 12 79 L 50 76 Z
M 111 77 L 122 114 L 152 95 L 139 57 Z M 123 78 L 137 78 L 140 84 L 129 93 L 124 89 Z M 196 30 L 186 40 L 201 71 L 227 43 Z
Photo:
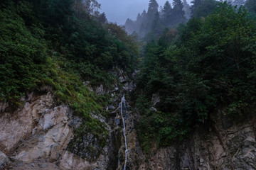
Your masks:
M 228 0 L 233 6 L 245 5 L 246 0 Z M 139 39 L 146 42 L 157 40 L 165 28 L 176 28 L 180 23 L 186 23 L 190 18 L 206 17 L 213 13 L 220 1 L 216 0 L 194 0 L 189 6 L 186 0 L 166 1 L 160 6 L 156 0 L 149 1 L 148 10 L 138 13 L 136 21 L 130 18 L 125 23 L 127 33 L 137 35 Z M 248 8 L 251 8 L 253 0 L 247 0 Z M 252 10 L 253 11 L 253 10 Z

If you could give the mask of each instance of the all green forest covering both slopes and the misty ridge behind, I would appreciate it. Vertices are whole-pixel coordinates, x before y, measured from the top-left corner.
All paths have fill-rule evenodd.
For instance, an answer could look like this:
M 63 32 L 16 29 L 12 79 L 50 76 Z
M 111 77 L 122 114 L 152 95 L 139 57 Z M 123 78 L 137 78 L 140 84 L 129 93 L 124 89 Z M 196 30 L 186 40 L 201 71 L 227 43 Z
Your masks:
M 139 70 L 131 94 L 142 118 L 139 142 L 149 152 L 210 127 L 218 109 L 233 119 L 255 111 L 256 1 L 149 1 L 124 26 L 107 21 L 96 0 L 0 1 L 0 101 L 13 108 L 31 91 L 54 94 L 87 130 L 107 142 L 106 95 L 85 86 L 117 82 Z M 161 103 L 151 109 L 152 96 Z

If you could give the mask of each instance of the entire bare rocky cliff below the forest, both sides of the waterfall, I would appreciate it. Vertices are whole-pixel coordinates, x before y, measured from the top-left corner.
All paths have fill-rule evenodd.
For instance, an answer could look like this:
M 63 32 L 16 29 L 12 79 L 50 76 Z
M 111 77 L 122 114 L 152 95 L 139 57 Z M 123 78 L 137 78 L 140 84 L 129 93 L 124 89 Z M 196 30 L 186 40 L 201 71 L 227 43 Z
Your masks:
M 101 85 L 95 90 L 97 94 L 110 94 L 112 102 L 106 107 L 107 118 L 92 114 L 105 123 L 109 132 L 107 145 L 102 148 L 90 132 L 75 140 L 74 132 L 82 119 L 68 106 L 57 103 L 50 92 L 31 93 L 21 98 L 23 104 L 16 109 L 0 103 L 0 169 L 123 169 L 125 147 L 119 102 L 122 94 L 132 91 L 134 83 L 121 74 L 122 86 L 106 90 Z M 137 120 L 139 113 L 128 103 L 124 111 L 127 169 L 256 169 L 253 118 L 233 121 L 220 110 L 212 118 L 212 128 L 198 128 L 183 142 L 161 149 L 153 147 L 148 155 L 143 154 L 137 140 Z

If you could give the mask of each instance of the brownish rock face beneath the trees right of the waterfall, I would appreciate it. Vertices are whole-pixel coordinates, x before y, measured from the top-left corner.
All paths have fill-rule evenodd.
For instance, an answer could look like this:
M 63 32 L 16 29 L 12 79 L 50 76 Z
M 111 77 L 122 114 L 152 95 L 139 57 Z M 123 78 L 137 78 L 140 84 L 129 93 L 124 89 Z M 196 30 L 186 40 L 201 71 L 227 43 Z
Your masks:
M 221 113 L 215 116 L 214 130 L 198 129 L 188 140 L 152 152 L 140 169 L 256 169 L 253 122 L 228 125 Z

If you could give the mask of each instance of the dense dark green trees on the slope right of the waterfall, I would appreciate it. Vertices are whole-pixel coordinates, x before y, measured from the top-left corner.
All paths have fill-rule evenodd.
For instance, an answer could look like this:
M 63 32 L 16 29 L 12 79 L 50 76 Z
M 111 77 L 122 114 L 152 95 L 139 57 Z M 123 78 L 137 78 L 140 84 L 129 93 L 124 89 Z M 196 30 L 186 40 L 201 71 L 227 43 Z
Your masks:
M 255 30 L 245 8 L 224 3 L 146 45 L 137 98 L 144 149 L 154 139 L 166 146 L 197 125 L 210 125 L 218 108 L 230 116 L 250 114 L 256 99 Z M 152 95 L 160 96 L 156 106 Z

